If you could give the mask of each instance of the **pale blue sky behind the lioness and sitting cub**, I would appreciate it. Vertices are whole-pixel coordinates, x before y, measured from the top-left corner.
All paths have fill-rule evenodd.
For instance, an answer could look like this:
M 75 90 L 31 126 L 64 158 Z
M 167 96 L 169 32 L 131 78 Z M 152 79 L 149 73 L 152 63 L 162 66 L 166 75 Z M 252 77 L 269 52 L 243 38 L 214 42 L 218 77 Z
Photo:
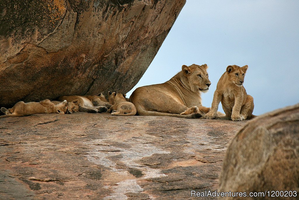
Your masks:
M 210 107 L 228 65 L 248 65 L 244 87 L 254 114 L 299 103 L 298 0 L 187 0 L 138 84 L 163 83 L 183 64 L 208 64 L 212 85 L 202 94 Z M 223 112 L 221 105 L 219 111 Z

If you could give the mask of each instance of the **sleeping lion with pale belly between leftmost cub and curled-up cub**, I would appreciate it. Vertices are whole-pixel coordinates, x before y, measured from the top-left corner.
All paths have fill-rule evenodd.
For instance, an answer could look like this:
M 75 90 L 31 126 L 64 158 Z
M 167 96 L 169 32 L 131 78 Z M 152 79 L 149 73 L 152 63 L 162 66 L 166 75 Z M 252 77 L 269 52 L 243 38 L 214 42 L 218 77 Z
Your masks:
M 72 102 L 78 100 L 77 105 L 79 106 L 80 112 L 92 112 L 92 113 L 101 113 L 106 112 L 107 107 L 110 107 L 111 104 L 100 100 L 100 97 L 96 95 L 87 95 L 87 96 L 62 96 L 58 98 L 59 101 L 67 100 Z

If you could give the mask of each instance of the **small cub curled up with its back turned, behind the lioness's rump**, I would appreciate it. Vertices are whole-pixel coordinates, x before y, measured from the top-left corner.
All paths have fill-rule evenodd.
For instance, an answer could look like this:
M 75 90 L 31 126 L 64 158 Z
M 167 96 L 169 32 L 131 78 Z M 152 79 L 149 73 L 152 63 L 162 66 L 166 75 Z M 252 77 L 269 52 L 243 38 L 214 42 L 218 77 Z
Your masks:
M 120 116 L 131 116 L 136 115 L 136 108 L 133 103 L 126 101 L 125 94 L 116 94 L 115 92 L 109 92 L 108 100 L 112 104 L 109 112 L 112 111 L 111 115 L 120 115 Z

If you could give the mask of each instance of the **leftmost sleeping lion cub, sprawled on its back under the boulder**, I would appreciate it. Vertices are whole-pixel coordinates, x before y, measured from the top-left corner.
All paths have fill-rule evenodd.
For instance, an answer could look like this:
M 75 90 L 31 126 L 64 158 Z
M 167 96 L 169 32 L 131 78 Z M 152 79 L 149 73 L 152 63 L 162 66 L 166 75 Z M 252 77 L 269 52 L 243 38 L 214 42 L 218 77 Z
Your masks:
M 24 103 L 24 101 L 19 101 L 12 108 L 6 109 L 4 107 L 1 108 L 1 111 L 6 115 L 0 116 L 3 117 L 23 117 L 33 114 L 39 113 L 59 113 L 64 114 L 66 112 L 66 101 L 58 103 L 54 105 L 50 100 L 45 99 L 40 102 L 28 102 Z

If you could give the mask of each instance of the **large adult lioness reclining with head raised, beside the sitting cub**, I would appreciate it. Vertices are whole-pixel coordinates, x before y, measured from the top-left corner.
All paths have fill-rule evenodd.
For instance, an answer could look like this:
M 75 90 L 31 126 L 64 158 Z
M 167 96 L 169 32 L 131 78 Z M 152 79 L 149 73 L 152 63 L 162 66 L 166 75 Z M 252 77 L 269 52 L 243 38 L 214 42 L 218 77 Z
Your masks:
M 130 96 L 138 115 L 198 118 L 210 109 L 202 106 L 201 92 L 207 92 L 211 82 L 207 64 L 182 66 L 169 81 L 137 88 Z M 200 114 L 199 114 L 200 113 Z

